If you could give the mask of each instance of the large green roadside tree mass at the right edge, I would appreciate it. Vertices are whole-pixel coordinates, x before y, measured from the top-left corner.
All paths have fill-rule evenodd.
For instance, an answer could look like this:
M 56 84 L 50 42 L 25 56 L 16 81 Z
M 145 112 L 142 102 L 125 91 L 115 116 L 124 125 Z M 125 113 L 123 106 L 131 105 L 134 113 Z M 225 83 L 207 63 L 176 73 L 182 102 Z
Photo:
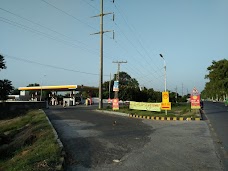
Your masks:
M 205 79 L 209 82 L 202 92 L 203 97 L 224 99 L 228 95 L 228 60 L 212 61 L 207 70 L 209 73 Z

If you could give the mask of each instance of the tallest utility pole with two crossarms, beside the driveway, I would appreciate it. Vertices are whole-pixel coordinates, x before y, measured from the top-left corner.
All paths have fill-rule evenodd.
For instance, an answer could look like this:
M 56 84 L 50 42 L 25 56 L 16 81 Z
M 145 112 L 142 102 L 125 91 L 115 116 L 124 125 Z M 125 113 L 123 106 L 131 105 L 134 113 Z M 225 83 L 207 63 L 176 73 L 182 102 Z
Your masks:
M 114 3 L 114 1 L 113 1 Z M 113 32 L 112 31 L 104 31 L 103 30 L 103 16 L 113 13 L 104 13 L 103 12 L 103 0 L 100 0 L 100 8 L 101 13 L 99 15 L 93 16 L 93 17 L 100 17 L 100 32 L 93 33 L 93 34 L 100 34 L 100 78 L 99 78 L 99 109 L 103 108 L 103 34 L 106 32 Z

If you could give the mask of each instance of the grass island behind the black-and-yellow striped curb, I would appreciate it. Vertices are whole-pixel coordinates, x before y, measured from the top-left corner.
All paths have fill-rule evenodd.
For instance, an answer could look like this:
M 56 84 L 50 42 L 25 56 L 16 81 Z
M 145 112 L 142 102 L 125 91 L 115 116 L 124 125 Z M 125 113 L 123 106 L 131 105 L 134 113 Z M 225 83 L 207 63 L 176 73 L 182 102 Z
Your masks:
M 134 114 L 139 116 L 159 116 L 159 117 L 199 117 L 199 110 L 191 110 L 189 103 L 175 104 L 172 105 L 172 110 L 168 111 L 168 114 L 165 114 L 165 111 L 161 112 L 151 112 L 151 111 L 142 111 L 142 110 L 132 110 L 128 106 L 120 105 L 120 109 L 116 112 L 122 112 L 126 114 Z M 112 111 L 112 106 L 106 107 L 105 110 Z

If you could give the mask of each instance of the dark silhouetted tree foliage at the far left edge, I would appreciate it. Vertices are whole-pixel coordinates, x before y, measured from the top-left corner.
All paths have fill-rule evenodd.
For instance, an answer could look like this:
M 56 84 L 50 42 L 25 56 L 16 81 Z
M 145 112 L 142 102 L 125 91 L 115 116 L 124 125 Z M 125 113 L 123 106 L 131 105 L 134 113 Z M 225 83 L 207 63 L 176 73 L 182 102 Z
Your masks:
M 4 57 L 0 54 L 0 70 L 6 69 Z M 0 100 L 6 100 L 7 96 L 13 91 L 11 81 L 4 79 L 0 80 Z

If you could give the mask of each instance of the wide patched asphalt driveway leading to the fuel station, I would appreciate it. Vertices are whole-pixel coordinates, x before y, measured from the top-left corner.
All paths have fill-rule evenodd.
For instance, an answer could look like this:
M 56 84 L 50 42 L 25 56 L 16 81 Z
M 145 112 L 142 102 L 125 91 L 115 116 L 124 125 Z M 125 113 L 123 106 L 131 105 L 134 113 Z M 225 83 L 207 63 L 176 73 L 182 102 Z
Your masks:
M 67 171 L 223 170 L 204 121 L 135 119 L 94 106 L 45 112 L 63 142 Z

